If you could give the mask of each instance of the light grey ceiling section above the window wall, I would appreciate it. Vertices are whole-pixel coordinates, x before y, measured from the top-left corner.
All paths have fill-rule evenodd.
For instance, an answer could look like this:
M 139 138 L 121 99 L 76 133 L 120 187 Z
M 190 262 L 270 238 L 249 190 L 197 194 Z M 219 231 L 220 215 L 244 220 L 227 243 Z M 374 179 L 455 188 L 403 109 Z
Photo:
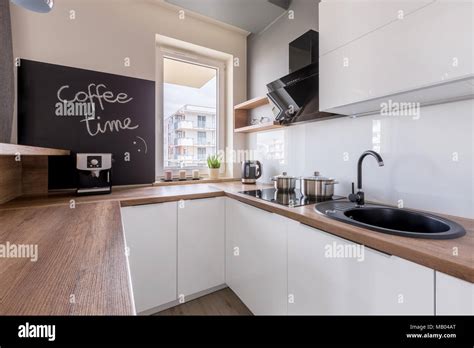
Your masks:
M 250 33 L 259 33 L 281 16 L 290 0 L 165 0 Z M 271 3 L 271 2 L 273 3 Z M 277 4 L 277 5 L 276 5 Z

